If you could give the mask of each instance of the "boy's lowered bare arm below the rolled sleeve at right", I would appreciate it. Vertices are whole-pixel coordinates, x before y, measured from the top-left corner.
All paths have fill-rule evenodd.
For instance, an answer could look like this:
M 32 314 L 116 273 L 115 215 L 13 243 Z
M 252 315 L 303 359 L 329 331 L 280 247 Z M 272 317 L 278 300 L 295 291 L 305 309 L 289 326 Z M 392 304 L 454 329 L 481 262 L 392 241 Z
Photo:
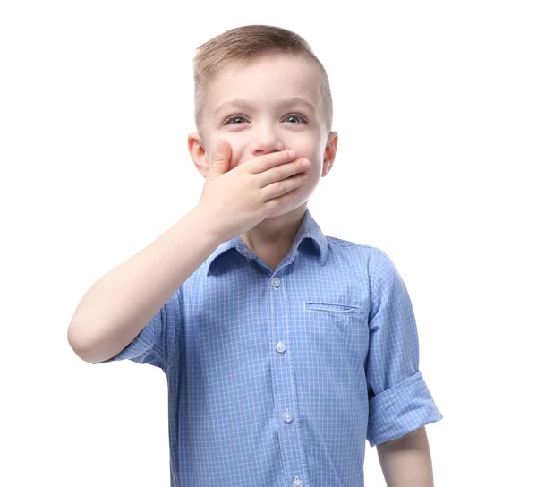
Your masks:
M 379 443 L 377 454 L 388 487 L 434 487 L 425 426 Z

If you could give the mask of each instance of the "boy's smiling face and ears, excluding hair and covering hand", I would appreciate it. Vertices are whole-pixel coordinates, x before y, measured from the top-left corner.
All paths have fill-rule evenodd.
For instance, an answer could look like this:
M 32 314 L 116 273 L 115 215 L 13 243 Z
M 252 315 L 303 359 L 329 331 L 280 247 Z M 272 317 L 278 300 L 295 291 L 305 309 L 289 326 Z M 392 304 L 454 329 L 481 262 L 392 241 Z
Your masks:
M 281 105 L 290 98 L 304 98 L 313 108 L 298 102 Z M 228 103 L 234 99 L 242 99 L 249 106 Z M 229 170 L 279 150 L 294 150 L 296 158 L 308 158 L 309 178 L 301 186 L 294 207 L 309 198 L 320 177 L 332 167 L 337 132 L 327 131 L 320 82 L 311 62 L 297 56 L 273 56 L 245 68 L 228 67 L 210 83 L 205 100 L 203 140 L 199 133 L 188 137 L 192 160 L 204 177 L 214 159 L 218 138 L 231 145 Z

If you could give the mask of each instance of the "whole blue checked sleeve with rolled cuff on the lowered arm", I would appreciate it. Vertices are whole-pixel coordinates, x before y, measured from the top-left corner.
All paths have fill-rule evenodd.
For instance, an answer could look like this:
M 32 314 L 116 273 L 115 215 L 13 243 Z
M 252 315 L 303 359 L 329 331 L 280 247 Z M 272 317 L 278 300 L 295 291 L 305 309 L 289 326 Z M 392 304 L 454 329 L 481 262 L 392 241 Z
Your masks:
M 385 252 L 373 253 L 366 361 L 371 447 L 443 418 L 419 370 L 418 332 L 405 283 Z

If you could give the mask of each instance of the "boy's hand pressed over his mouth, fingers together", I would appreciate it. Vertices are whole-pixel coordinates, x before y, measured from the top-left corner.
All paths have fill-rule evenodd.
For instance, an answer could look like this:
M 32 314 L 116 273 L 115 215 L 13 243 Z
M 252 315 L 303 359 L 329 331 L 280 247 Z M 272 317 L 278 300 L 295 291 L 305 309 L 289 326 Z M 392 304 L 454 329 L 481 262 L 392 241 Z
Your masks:
M 256 226 L 293 201 L 306 180 L 304 159 L 290 157 L 289 150 L 251 158 L 229 169 L 231 146 L 221 139 L 198 207 L 210 221 L 210 230 L 226 242 Z

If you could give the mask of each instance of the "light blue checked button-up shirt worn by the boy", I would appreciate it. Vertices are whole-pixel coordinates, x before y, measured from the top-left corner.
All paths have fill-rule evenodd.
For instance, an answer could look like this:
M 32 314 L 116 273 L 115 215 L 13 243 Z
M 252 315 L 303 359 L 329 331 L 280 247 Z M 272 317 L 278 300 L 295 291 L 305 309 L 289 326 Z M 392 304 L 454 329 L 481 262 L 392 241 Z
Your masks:
M 376 247 L 306 209 L 272 271 L 220 244 L 129 346 L 166 373 L 171 485 L 362 487 L 371 447 L 442 419 L 413 307 Z

